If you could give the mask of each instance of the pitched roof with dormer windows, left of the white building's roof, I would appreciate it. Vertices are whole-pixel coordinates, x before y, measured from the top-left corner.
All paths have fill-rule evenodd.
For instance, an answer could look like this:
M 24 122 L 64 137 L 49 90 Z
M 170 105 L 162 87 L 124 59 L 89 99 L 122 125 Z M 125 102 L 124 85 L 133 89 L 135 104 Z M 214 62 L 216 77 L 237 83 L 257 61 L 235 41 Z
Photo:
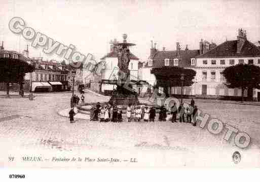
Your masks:
M 169 59 L 169 66 L 173 66 L 173 59 L 178 59 L 178 66 L 187 67 L 191 66 L 191 58 L 195 58 L 199 55 L 199 50 L 180 50 L 179 55 L 177 51 L 157 51 L 150 59 L 153 60 L 153 65 L 148 66 L 148 62 L 145 67 L 162 67 L 164 65 L 164 59 Z

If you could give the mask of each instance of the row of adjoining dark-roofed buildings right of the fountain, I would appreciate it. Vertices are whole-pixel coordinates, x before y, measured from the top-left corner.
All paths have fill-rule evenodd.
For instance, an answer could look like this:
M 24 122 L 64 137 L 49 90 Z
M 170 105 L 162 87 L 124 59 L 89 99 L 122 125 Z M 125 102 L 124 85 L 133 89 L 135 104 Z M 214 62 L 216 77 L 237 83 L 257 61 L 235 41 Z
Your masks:
M 150 85 L 156 84 L 156 78 L 151 74 L 153 67 L 180 66 L 194 69 L 196 77 L 194 84 L 183 87 L 183 95 L 193 95 L 202 98 L 241 97 L 241 89 L 230 89 L 226 86 L 222 71 L 235 64 L 254 64 L 260 66 L 260 48 L 257 43 L 251 43 L 246 38 L 246 31 L 239 29 L 237 40 L 226 41 L 218 46 L 201 40 L 199 50 L 180 50 L 176 43 L 175 51 L 158 51 L 156 44 L 151 48 L 151 54 L 141 70 L 142 80 Z M 159 91 L 163 92 L 163 88 Z M 168 93 L 180 95 L 180 87 L 171 87 Z M 249 89 L 244 92 L 245 97 L 260 100 L 260 91 Z

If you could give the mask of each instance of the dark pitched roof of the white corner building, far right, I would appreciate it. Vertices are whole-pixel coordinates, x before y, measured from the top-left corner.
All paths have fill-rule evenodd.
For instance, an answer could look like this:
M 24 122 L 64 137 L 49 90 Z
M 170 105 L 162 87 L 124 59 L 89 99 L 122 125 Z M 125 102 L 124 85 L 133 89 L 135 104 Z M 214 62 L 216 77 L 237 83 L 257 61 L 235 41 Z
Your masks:
M 245 40 L 241 51 L 237 52 L 237 40 L 226 41 L 214 49 L 198 56 L 198 58 L 203 57 L 254 57 L 260 56 L 260 49 L 249 41 Z

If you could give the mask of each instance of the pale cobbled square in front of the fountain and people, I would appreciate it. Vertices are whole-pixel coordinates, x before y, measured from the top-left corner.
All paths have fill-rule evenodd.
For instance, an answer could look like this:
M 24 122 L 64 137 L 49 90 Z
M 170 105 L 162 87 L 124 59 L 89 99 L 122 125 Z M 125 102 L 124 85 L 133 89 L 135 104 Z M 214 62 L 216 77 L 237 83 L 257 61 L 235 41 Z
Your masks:
M 122 122 L 99 123 L 58 115 L 69 107 L 70 93 L 35 94 L 28 98 L 1 99 L 0 102 L 0 160 L 4 166 L 85 167 L 97 163 L 52 163 L 53 156 L 117 157 L 138 159 L 138 166 L 235 166 L 232 154 L 242 154 L 240 166 L 260 166 L 259 106 L 199 103 L 199 108 L 229 123 L 252 138 L 248 149 L 237 148 L 222 135 L 210 134 L 206 129 L 187 123 Z M 108 101 L 107 97 L 85 94 L 86 102 Z M 196 101 L 196 100 L 195 100 Z M 44 156 L 44 163 L 8 162 L 8 156 Z M 102 166 L 109 164 L 102 164 Z M 120 163 L 133 166 L 132 163 Z

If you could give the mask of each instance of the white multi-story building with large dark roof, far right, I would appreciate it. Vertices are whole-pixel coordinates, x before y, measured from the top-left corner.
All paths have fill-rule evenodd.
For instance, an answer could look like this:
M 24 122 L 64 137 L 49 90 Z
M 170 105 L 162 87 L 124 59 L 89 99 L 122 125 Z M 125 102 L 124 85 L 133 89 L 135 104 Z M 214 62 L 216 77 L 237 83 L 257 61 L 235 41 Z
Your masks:
M 207 97 L 239 97 L 241 89 L 229 89 L 225 85 L 222 71 L 235 64 L 260 66 L 260 49 L 246 38 L 246 31 L 239 29 L 237 40 L 226 41 L 214 49 L 191 60 L 191 67 L 197 72 L 192 88 L 195 95 Z M 244 96 L 257 97 L 258 90 L 249 89 Z M 260 96 L 260 95 L 258 95 Z

